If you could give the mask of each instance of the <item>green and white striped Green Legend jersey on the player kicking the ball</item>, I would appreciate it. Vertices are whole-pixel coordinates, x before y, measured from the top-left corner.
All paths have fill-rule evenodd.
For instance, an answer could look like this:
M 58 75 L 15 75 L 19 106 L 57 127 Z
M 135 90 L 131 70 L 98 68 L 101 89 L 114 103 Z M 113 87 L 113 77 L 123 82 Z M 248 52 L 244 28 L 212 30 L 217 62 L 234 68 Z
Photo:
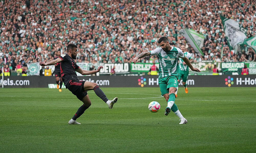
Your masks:
M 179 77 L 178 58 L 184 58 L 184 54 L 178 47 L 165 52 L 161 47 L 150 51 L 151 55 L 156 55 L 159 60 L 159 78 L 174 75 Z

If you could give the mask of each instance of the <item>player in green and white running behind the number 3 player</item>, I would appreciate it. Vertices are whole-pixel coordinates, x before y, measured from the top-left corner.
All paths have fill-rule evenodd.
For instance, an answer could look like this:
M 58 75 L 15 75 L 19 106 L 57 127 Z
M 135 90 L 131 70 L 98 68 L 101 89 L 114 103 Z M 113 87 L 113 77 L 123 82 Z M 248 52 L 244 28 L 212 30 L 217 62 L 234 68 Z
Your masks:
M 184 44 L 180 45 L 180 49 L 182 50 L 184 56 L 186 56 L 190 63 L 193 63 L 194 60 L 192 58 L 192 55 L 188 52 L 186 52 L 186 47 Z M 187 64 L 183 61 L 183 59 L 179 58 L 179 78 L 178 78 L 178 82 L 180 81 L 180 79 L 182 79 L 182 84 L 185 88 L 185 93 L 188 93 L 188 88 L 187 88 L 187 79 L 188 79 L 188 66 Z M 178 87 L 175 93 L 175 97 L 177 97 L 177 92 L 178 92 Z

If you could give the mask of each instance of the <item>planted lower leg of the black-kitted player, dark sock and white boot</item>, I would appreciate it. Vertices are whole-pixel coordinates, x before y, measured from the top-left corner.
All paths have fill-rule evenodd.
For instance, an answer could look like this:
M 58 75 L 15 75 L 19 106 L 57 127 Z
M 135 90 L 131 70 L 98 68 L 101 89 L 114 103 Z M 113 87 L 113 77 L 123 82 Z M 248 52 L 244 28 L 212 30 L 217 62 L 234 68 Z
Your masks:
M 88 95 L 83 97 L 82 102 L 83 105 L 78 108 L 72 119 L 68 121 L 68 124 L 80 124 L 76 121 L 77 118 L 79 118 L 84 113 L 84 111 L 91 106 L 91 100 Z

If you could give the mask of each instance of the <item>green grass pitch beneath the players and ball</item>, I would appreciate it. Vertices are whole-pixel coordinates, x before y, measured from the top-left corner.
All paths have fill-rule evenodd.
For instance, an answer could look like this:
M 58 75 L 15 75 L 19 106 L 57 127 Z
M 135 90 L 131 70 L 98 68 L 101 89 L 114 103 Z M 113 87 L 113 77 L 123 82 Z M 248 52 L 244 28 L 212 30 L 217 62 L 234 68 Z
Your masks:
M 67 89 L 0 89 L 0 152 L 254 152 L 254 87 L 180 87 L 175 100 L 188 120 L 178 124 L 159 88 L 101 88 L 119 97 L 113 109 L 89 91 L 92 105 L 68 121 L 82 105 Z M 158 101 L 157 113 L 148 110 Z M 254 150 L 254 151 L 253 151 Z

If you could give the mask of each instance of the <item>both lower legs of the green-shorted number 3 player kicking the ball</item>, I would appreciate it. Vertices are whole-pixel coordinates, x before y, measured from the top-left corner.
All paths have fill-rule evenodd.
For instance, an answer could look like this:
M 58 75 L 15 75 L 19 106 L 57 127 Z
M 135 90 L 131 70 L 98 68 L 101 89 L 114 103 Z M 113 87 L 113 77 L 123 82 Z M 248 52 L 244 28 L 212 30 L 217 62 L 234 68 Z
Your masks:
M 168 115 L 170 111 L 172 110 L 179 118 L 180 118 L 180 123 L 179 124 L 186 124 L 187 120 L 182 116 L 180 111 L 178 110 L 178 107 L 176 104 L 174 104 L 175 101 L 175 87 L 170 87 L 169 88 L 169 94 L 164 94 L 163 96 L 165 97 L 167 101 L 167 107 L 165 109 L 164 115 Z

